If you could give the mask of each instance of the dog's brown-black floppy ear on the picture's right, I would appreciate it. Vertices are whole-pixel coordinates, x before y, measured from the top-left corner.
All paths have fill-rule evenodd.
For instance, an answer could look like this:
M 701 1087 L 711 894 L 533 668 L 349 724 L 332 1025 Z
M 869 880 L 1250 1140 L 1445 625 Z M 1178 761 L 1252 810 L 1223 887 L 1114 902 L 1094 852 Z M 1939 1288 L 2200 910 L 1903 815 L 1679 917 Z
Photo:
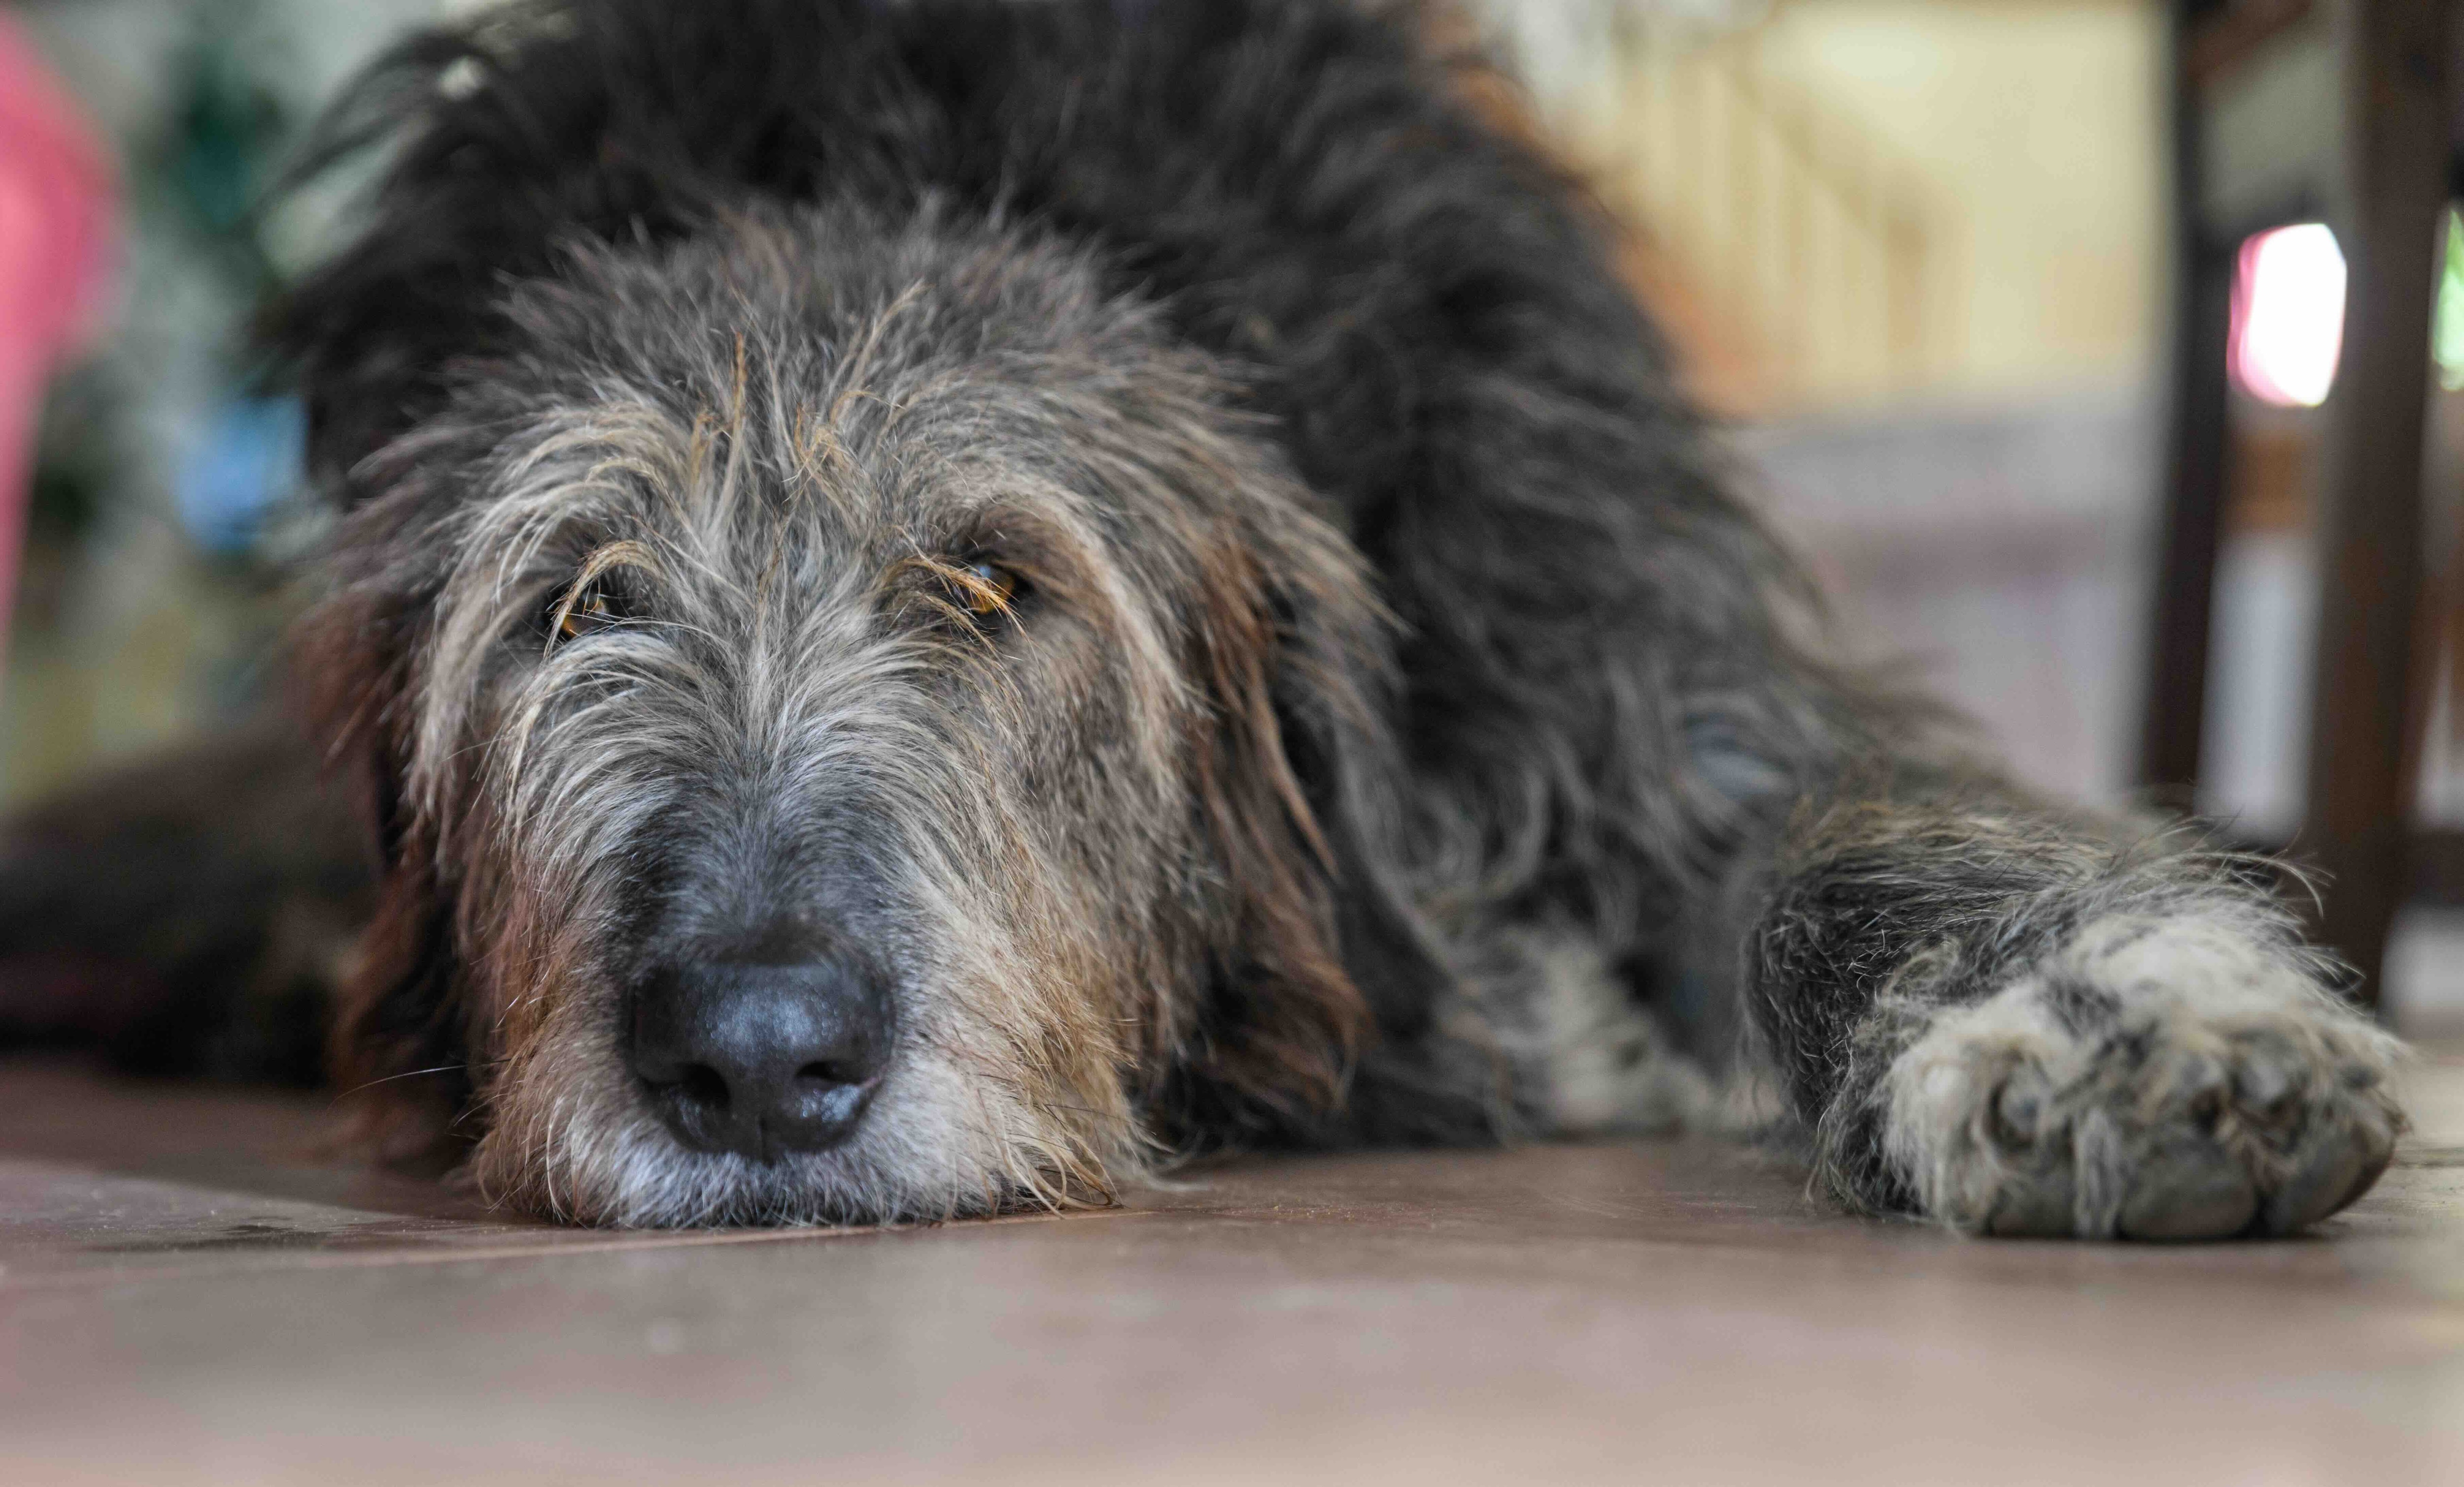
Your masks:
M 1190 756 L 1230 901 L 1163 1100 L 1183 1132 L 1331 1135 L 1360 1059 L 1417 1032 L 1444 975 L 1372 785 L 1392 778 L 1380 630 L 1343 559 L 1227 544 L 1202 561 L 1190 675 L 1210 707 Z

